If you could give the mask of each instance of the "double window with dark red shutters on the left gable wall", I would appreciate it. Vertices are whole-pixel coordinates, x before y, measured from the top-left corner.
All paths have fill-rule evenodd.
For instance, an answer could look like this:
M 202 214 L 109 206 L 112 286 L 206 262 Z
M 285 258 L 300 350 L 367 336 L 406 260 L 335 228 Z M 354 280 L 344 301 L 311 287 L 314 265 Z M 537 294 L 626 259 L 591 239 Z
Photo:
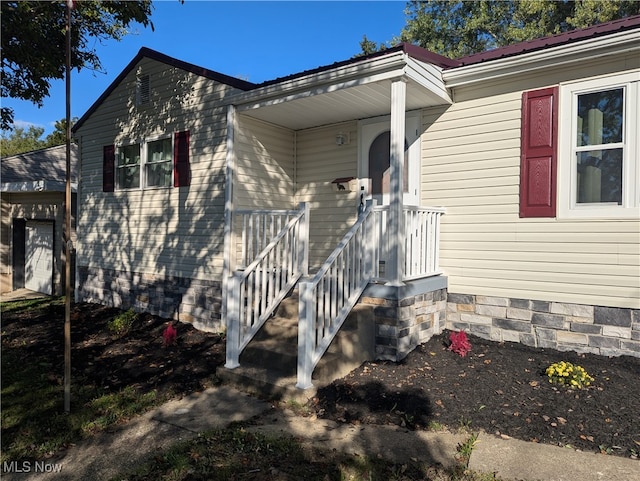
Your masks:
M 115 166 L 115 168 L 114 168 Z M 184 187 L 191 182 L 189 131 L 139 144 L 103 148 L 102 191 Z M 115 181 L 115 182 L 114 182 Z

